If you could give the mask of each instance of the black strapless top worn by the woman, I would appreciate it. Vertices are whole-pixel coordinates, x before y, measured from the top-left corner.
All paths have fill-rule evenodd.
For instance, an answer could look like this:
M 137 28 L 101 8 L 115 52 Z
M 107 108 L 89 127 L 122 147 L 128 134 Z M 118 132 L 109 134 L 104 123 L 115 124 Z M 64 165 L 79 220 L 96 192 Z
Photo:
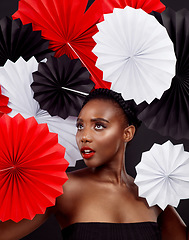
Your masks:
M 155 222 L 79 222 L 62 230 L 63 240 L 161 240 Z

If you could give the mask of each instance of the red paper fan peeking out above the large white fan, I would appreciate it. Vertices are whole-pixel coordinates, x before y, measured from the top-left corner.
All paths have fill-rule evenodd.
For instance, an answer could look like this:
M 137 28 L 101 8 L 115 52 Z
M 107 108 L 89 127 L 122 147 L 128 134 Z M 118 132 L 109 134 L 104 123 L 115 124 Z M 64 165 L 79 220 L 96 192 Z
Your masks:
M 163 12 L 165 5 L 159 0 L 101 0 L 104 13 L 113 12 L 114 8 L 141 8 L 147 13 L 152 11 Z

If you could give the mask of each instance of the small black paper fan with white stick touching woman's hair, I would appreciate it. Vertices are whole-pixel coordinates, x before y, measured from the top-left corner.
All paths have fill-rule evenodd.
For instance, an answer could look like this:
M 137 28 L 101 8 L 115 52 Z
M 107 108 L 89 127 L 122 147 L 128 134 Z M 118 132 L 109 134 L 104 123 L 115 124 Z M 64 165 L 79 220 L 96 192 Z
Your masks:
M 65 54 L 58 59 L 51 57 L 33 73 L 34 98 L 52 116 L 78 116 L 86 95 L 94 87 L 89 77 L 79 59 L 71 60 Z

